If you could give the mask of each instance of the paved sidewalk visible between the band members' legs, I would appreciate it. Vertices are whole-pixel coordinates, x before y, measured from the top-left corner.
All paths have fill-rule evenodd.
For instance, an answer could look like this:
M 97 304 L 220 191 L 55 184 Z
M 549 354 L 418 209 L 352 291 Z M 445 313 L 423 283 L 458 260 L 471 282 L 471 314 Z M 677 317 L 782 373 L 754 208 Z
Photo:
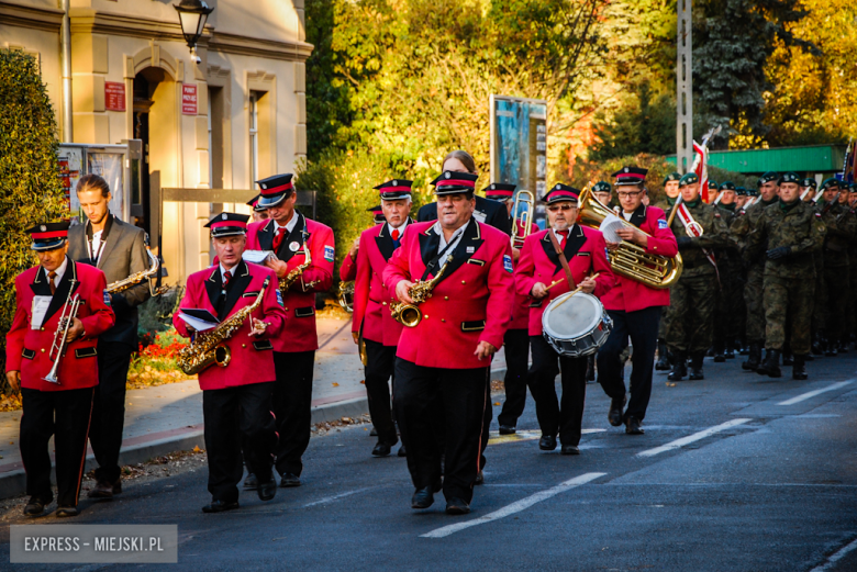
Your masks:
M 352 340 L 350 321 L 320 318 L 318 327 L 320 347 L 315 355 L 312 423 L 368 413 L 366 389 L 361 383 L 363 364 Z M 504 369 L 501 350 L 494 359 L 492 378 L 501 379 Z M 0 413 L 0 498 L 25 490 L 18 442 L 20 420 L 20 411 Z M 120 464 L 144 462 L 197 446 L 204 448 L 202 392 L 196 380 L 127 392 Z M 86 470 L 94 467 L 90 449 Z

